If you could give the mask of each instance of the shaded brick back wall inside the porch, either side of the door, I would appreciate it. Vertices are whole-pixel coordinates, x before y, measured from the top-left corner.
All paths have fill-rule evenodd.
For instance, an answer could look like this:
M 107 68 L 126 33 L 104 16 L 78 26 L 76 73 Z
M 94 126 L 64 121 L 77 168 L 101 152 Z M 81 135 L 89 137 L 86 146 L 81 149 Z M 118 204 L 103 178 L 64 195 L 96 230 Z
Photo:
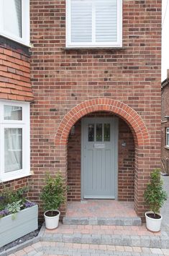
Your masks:
M 122 142 L 126 142 L 125 147 Z M 134 200 L 134 140 L 122 119 L 119 119 L 118 159 L 118 199 Z M 68 138 L 68 200 L 81 200 L 81 120 L 75 124 L 75 134 Z

